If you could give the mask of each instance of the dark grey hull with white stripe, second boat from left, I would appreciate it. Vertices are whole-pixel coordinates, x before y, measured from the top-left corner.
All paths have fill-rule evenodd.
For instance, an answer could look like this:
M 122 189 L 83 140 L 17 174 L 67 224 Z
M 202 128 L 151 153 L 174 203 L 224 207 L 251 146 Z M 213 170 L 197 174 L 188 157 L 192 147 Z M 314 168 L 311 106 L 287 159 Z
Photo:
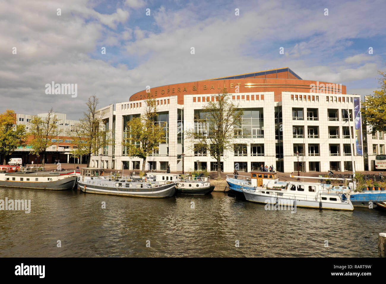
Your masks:
M 116 188 L 100 185 L 85 184 L 78 181 L 78 186 L 83 192 L 95 194 L 107 194 L 129 197 L 164 198 L 174 196 L 177 192 L 176 184 L 161 185 L 149 188 Z

